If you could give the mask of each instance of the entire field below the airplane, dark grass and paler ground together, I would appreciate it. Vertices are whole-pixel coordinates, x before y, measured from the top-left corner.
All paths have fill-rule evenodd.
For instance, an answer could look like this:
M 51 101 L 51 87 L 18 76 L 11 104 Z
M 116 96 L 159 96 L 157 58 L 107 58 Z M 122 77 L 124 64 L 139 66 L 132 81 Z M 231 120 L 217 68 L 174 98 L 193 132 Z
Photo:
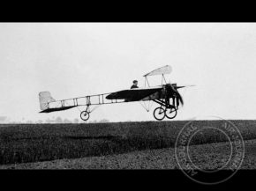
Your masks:
M 166 158 L 175 160 L 173 147 L 178 132 L 186 122 L 146 121 L 97 124 L 1 125 L 0 164 L 4 168 L 8 164 L 55 160 L 54 162 L 44 163 L 49 164 L 52 168 L 55 167 L 50 164 L 65 166 L 64 168 L 67 168 L 67 166 L 72 166 L 72 168 L 83 168 L 83 166 L 85 168 L 111 168 L 111 166 L 114 168 L 115 166 L 117 168 L 130 168 L 131 166 L 133 166 L 131 168 L 143 168 L 143 166 L 145 168 L 176 168 L 176 162 L 165 163 L 164 161 Z M 245 141 L 245 161 L 253 165 L 254 160 L 251 157 L 256 152 L 255 147 L 253 147 L 255 143 L 253 139 L 256 139 L 256 121 L 232 122 L 240 130 L 244 140 L 252 140 Z M 221 123 L 222 121 L 195 122 L 198 126 L 216 128 Z M 225 147 L 227 141 L 227 138 L 219 131 L 208 132 L 203 136 L 197 135 L 192 139 L 191 145 L 194 144 L 192 153 L 195 156 L 202 155 L 211 151 L 209 147 L 212 147 L 210 146 L 212 144 L 209 143 L 217 143 L 214 145 L 215 148 L 218 148 L 219 146 Z M 220 151 L 222 150 L 220 149 Z M 215 156 L 213 158 L 216 158 L 217 154 L 213 156 Z M 57 165 L 59 164 L 58 161 L 65 165 Z M 82 164 L 84 165 L 79 165 L 79 161 L 83 161 Z M 85 161 L 87 161 L 86 165 Z M 112 164 L 113 161 L 116 161 L 116 165 Z M 127 165 L 127 163 L 130 165 Z M 146 164 L 141 165 L 140 163 Z M 159 165 L 159 163 L 162 165 Z M 172 164 L 172 167 L 169 164 Z

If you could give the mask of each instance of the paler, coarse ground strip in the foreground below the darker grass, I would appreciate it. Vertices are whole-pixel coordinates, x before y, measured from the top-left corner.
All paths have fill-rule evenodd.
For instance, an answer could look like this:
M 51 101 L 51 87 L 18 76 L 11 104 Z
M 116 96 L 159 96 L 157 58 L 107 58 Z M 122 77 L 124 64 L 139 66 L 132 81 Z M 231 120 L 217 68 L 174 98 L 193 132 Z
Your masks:
M 227 160 L 229 143 L 192 145 L 191 157 L 201 169 L 220 169 Z M 174 148 L 132 151 L 102 157 L 68 158 L 52 161 L 0 165 L 0 169 L 178 169 Z M 256 140 L 245 141 L 241 169 L 256 169 Z M 228 168 L 223 168 L 228 169 Z

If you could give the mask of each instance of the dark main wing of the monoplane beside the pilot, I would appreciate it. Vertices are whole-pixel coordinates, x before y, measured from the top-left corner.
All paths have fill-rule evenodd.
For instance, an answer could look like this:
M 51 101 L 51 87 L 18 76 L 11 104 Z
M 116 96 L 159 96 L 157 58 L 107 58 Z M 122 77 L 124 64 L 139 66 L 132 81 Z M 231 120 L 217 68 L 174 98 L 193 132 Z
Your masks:
M 162 90 L 162 87 L 155 88 L 134 88 L 131 90 L 123 90 L 119 92 L 110 93 L 106 99 L 127 99 L 128 101 L 139 101 L 144 99 L 147 96 L 159 92 Z

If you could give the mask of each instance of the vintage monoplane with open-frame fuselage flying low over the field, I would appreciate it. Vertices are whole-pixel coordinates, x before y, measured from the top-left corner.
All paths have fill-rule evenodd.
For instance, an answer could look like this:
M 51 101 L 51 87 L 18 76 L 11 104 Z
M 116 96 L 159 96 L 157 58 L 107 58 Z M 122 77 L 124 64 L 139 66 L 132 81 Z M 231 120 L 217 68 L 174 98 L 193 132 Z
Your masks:
M 143 76 L 145 77 L 145 87 L 143 88 L 134 88 L 118 92 L 102 93 L 62 100 L 53 99 L 49 92 L 40 92 L 40 113 L 63 111 L 73 107 L 86 107 L 86 110 L 80 113 L 80 118 L 83 121 L 87 121 L 90 117 L 90 113 L 93 111 L 90 109 L 90 107 L 94 105 L 127 103 L 131 101 L 154 101 L 160 106 L 154 109 L 153 114 L 156 120 L 162 121 L 165 117 L 168 119 L 173 119 L 177 115 L 179 104 L 184 104 L 183 98 L 180 93 L 177 92 L 177 89 L 185 86 L 177 86 L 177 84 L 166 83 L 164 75 L 169 74 L 171 71 L 171 67 L 166 65 L 147 73 Z M 151 87 L 148 83 L 147 77 L 155 75 L 162 76 L 162 84 Z M 149 111 L 149 108 L 147 108 L 147 111 Z

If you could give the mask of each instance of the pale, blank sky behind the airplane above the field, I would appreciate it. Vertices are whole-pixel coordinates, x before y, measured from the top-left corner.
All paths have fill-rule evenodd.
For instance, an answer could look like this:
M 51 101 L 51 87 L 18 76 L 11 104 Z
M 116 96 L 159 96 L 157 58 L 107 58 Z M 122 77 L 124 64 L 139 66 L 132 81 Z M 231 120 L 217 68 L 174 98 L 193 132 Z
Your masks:
M 38 93 L 69 99 L 116 92 L 133 79 L 143 86 L 144 74 L 169 64 L 168 81 L 197 85 L 180 91 L 177 120 L 255 119 L 255 63 L 254 23 L 1 23 L 0 116 L 73 120 L 76 108 L 39 114 Z M 161 84 L 161 77 L 153 81 Z M 90 120 L 151 121 L 154 107 L 102 106 Z

